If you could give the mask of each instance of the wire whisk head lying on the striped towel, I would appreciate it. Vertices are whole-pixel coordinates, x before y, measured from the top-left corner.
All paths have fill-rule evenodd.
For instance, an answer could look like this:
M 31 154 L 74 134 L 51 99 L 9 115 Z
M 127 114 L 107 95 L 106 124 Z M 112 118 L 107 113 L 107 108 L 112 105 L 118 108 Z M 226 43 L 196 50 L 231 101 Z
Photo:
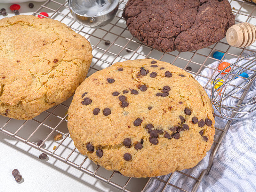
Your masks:
M 222 118 L 239 119 L 256 110 L 256 90 L 250 90 L 256 79 L 255 65 L 256 52 L 253 52 L 214 77 L 210 99 Z M 228 68 L 231 70 L 225 72 Z M 248 76 L 241 76 L 245 72 Z

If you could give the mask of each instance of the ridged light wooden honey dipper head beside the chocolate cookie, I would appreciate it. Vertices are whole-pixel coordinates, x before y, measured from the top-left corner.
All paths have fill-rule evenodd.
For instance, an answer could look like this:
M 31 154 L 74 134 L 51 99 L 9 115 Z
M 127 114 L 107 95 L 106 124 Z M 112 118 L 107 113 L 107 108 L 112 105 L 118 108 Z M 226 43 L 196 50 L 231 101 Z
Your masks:
M 256 40 L 256 26 L 251 23 L 237 23 L 228 28 L 227 42 L 234 47 L 247 47 Z

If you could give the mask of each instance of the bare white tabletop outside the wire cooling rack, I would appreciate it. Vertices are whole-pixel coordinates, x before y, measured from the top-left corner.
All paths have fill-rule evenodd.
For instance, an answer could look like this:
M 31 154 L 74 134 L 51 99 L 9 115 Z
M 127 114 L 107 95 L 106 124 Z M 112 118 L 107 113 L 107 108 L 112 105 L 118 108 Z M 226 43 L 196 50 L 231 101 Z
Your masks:
M 55 1 L 65 2 L 64 0 Z M 20 3 L 20 14 L 31 15 L 44 2 L 33 2 L 35 5 L 33 9 L 28 8 L 28 3 L 29 2 Z M 5 17 L 14 15 L 9 9 L 10 5 L 11 4 L 0 3 L 0 9 L 5 8 L 8 13 Z M 0 19 L 2 18 L 4 18 L 4 16 L 0 16 Z M 6 122 L 6 119 L 7 118 L 1 116 L 0 122 Z M 12 126 L 15 126 L 15 124 Z M 51 144 L 48 143 L 46 142 L 46 145 Z M 119 191 L 118 189 L 112 188 L 109 185 L 56 160 L 52 156 L 48 157 L 46 160 L 40 160 L 38 156 L 41 153 L 42 152 L 29 147 L 20 141 L 0 133 L 0 192 Z M 14 180 L 12 176 L 13 169 L 18 169 L 20 171 L 20 174 L 23 177 L 20 183 L 17 183 Z M 116 179 L 121 180 L 121 177 L 123 176 L 117 176 Z M 138 180 L 138 182 L 136 181 L 137 185 L 134 186 L 134 188 L 143 186 L 146 181 L 147 179 L 141 179 Z

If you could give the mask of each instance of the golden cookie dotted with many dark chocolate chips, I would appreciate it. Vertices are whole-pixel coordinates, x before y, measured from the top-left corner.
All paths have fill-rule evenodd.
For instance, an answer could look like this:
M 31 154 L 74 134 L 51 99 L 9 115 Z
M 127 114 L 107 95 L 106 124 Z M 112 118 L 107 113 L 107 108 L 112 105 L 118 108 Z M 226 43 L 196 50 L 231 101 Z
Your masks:
M 68 109 L 68 130 L 80 153 L 131 177 L 194 167 L 215 134 L 202 86 L 152 59 L 118 62 L 86 78 Z

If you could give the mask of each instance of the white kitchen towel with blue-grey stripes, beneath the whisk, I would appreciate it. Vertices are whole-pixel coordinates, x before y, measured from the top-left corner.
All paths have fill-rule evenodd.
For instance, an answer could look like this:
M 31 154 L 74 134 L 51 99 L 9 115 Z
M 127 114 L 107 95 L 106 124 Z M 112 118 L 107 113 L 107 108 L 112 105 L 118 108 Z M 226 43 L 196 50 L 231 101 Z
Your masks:
M 247 53 L 248 54 L 248 53 Z M 236 58 L 224 60 L 229 63 L 236 62 Z M 209 66 L 216 68 L 219 62 L 214 62 Z M 212 69 L 205 68 L 201 74 L 211 76 Z M 217 72 L 216 72 L 217 73 Z M 250 74 L 249 74 L 250 75 Z M 199 76 L 196 78 L 201 85 L 205 85 L 207 78 Z M 242 78 L 237 78 L 232 83 L 239 83 Z M 208 85 L 211 88 L 211 84 Z M 210 90 L 206 91 L 210 96 Z M 248 100 L 252 94 L 256 93 L 256 82 L 253 83 L 250 93 L 245 98 Z M 241 94 L 238 93 L 238 95 Z M 233 102 L 228 100 L 228 102 Z M 217 110 L 215 109 L 216 114 Z M 219 117 L 215 118 L 215 127 L 223 129 L 227 120 Z M 217 131 L 215 138 L 219 136 Z M 213 149 L 213 147 L 212 147 Z M 192 169 L 183 170 L 193 177 L 198 178 L 203 169 L 206 169 L 212 149 L 207 153 L 205 158 Z M 160 176 L 159 178 L 167 180 L 169 175 Z M 195 180 L 175 172 L 170 180 L 175 186 L 191 191 Z M 152 178 L 146 192 L 160 192 L 164 187 L 164 182 Z M 180 191 L 168 185 L 165 190 Z M 198 192 L 253 192 L 256 191 L 256 111 L 244 116 L 241 120 L 233 121 L 230 128 L 222 141 L 220 148 L 214 158 L 212 168 L 208 175 L 205 175 L 198 188 Z

